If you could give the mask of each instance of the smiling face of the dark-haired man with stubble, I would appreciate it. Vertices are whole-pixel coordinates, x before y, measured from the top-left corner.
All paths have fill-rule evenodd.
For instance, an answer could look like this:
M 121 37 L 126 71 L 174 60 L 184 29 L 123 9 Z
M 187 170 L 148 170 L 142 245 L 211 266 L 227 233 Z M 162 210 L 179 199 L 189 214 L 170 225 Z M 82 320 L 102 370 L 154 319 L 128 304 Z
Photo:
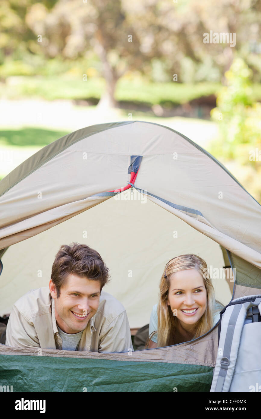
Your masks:
M 55 318 L 59 328 L 68 334 L 84 330 L 98 310 L 101 282 L 68 274 L 60 288 L 59 298 L 52 280 L 49 288 L 54 298 Z

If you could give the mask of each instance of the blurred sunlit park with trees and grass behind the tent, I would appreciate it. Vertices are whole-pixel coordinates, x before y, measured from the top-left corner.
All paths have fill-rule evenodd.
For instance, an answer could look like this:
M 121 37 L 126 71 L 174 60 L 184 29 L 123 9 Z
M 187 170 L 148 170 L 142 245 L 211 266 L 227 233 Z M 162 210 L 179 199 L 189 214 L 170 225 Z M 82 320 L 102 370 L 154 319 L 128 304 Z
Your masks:
M 76 129 L 138 119 L 261 202 L 260 1 L 2 0 L 0 26 L 0 178 Z

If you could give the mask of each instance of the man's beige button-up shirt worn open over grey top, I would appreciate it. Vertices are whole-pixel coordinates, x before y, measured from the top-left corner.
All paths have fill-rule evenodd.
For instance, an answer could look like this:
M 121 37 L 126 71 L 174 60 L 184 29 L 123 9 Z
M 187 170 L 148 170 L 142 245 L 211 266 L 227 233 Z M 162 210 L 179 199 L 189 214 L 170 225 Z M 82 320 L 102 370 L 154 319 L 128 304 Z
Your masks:
M 62 349 L 49 287 L 29 291 L 13 305 L 5 344 Z M 83 330 L 77 350 L 110 353 L 129 349 L 133 347 L 126 310 L 116 298 L 102 291 L 98 310 Z

